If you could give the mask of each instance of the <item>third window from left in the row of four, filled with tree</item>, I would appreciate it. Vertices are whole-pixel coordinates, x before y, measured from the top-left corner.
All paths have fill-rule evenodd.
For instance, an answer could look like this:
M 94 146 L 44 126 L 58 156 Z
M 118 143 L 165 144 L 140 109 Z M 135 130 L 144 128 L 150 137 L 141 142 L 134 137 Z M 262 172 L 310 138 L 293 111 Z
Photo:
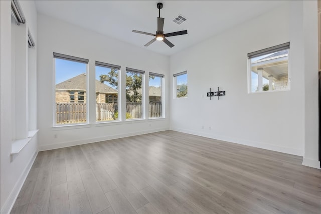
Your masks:
M 143 118 L 143 88 L 145 71 L 126 68 L 126 119 Z

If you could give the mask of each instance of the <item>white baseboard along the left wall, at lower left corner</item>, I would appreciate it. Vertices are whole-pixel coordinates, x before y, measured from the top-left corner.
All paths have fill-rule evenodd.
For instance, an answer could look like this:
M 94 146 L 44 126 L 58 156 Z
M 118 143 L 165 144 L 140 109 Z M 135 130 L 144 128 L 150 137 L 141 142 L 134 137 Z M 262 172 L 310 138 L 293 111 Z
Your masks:
M 24 169 L 23 173 L 20 175 L 17 183 L 15 184 L 13 190 L 11 191 L 8 199 L 6 200 L 3 208 L 1 209 L 0 213 L 1 214 L 9 214 L 11 212 L 12 207 L 14 206 L 16 199 L 18 197 L 18 194 L 22 188 L 22 186 L 25 183 L 25 180 L 29 174 L 29 171 L 32 167 L 32 165 L 35 162 L 35 159 L 37 157 L 38 151 L 35 152 L 34 156 L 31 158 L 29 163 L 27 164 L 26 168 Z

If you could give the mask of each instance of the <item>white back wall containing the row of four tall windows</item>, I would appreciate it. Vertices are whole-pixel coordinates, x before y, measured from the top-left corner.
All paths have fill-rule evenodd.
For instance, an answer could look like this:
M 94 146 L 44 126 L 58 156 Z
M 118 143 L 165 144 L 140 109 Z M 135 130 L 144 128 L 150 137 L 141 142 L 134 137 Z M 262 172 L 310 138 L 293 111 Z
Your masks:
M 102 26 L 103 27 L 103 26 Z M 38 15 L 38 125 L 39 149 L 78 145 L 112 138 L 168 130 L 168 112 L 165 119 L 95 124 L 95 112 L 90 112 L 89 125 L 53 127 L 53 52 L 89 59 L 89 108 L 95 109 L 95 61 L 121 66 L 122 78 L 126 67 L 165 74 L 165 97 L 168 89 L 169 57 L 155 54 L 78 26 Z M 148 83 L 148 78 L 145 78 Z M 125 85 L 121 85 L 125 92 Z M 124 95 L 124 93 L 122 93 Z M 93 97 L 94 99 L 90 99 Z M 88 100 L 89 98 L 89 100 Z M 147 97 L 145 97 L 147 98 Z M 125 96 L 121 97 L 125 104 Z M 165 100 L 168 109 L 168 99 Z M 122 105 L 125 115 L 125 105 Z M 54 138 L 54 136 L 57 138 Z

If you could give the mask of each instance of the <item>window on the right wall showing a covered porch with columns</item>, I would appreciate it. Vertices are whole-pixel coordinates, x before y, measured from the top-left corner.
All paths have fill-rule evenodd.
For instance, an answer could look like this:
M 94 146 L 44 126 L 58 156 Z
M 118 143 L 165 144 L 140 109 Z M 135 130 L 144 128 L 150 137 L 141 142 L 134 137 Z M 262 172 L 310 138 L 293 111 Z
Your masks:
M 289 52 L 288 42 L 248 54 L 250 93 L 290 89 Z

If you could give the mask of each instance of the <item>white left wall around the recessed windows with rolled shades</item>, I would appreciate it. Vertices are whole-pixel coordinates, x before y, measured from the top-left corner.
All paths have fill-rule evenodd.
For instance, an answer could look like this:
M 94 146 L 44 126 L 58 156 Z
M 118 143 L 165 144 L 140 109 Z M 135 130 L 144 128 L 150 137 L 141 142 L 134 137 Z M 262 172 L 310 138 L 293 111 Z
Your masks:
M 21 24 L 21 27 L 25 30 L 29 29 L 37 43 L 37 12 L 34 2 L 20 1 L 20 5 L 26 18 L 26 24 Z M 37 136 L 34 136 L 19 154 L 11 158 L 12 142 L 17 139 L 17 136 L 12 134 L 15 133 L 16 127 L 12 125 L 12 118 L 15 118 L 12 115 L 16 114 L 16 106 L 14 105 L 15 102 L 12 102 L 15 99 L 12 78 L 15 77 L 12 77 L 11 65 L 12 51 L 14 51 L 11 49 L 11 1 L 0 1 L 0 26 L 0 212 L 9 213 L 37 155 Z M 27 38 L 27 35 L 24 35 L 24 37 Z M 27 53 L 25 53 L 26 56 Z M 30 67 L 26 64 L 25 71 L 35 73 L 36 58 L 31 59 L 28 63 Z M 31 81 L 31 83 L 35 82 L 35 79 Z M 34 101 L 36 101 L 35 99 Z M 28 112 L 28 107 L 26 112 Z M 36 115 L 30 114 L 30 116 L 32 120 L 36 120 Z M 28 123 L 28 118 L 25 118 L 24 122 Z M 36 125 L 33 128 L 36 128 Z

